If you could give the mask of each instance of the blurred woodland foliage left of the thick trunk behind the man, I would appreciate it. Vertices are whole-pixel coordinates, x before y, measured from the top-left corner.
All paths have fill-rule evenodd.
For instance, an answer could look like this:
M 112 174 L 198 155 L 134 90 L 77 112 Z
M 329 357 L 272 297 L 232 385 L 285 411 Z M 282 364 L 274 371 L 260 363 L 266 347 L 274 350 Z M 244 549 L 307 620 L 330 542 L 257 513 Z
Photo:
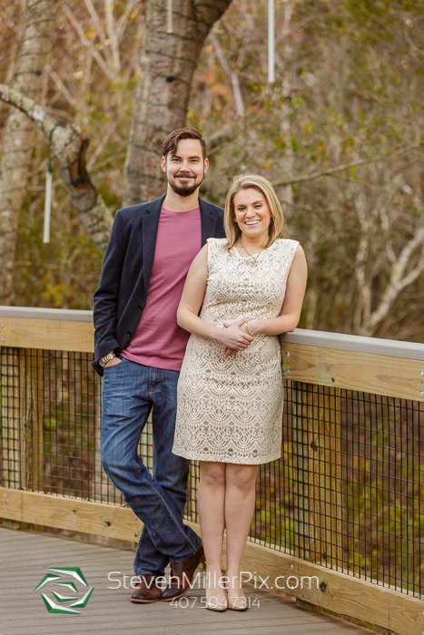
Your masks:
M 107 38 L 108 21 L 101 0 L 94 0 L 98 22 L 86 7 L 71 0 L 62 8 L 54 32 L 53 54 L 44 74 L 44 104 L 59 122 L 74 123 L 91 140 L 88 169 L 111 210 L 122 206 L 123 161 L 133 111 L 133 91 L 138 81 L 138 48 L 143 6 L 133 10 L 120 23 L 120 68 L 111 53 Z M 123 19 L 127 3 L 113 3 L 113 20 Z M 25 27 L 25 6 L 9 3 L 2 9 L 0 24 L 0 81 L 10 83 L 14 55 Z M 86 41 L 82 46 L 79 24 Z M 103 29 L 103 33 L 102 33 Z M 116 31 L 118 33 L 119 29 Z M 104 39 L 106 37 L 106 39 Z M 98 63 L 104 60 L 104 65 Z M 8 110 L 0 106 L 0 125 Z M 43 244 L 44 183 L 47 168 L 47 142 L 37 135 L 28 190 L 21 210 L 15 251 L 14 289 L 11 303 L 52 308 L 92 308 L 93 293 L 100 278 L 103 254 L 87 236 L 63 183 L 54 168 L 51 239 Z

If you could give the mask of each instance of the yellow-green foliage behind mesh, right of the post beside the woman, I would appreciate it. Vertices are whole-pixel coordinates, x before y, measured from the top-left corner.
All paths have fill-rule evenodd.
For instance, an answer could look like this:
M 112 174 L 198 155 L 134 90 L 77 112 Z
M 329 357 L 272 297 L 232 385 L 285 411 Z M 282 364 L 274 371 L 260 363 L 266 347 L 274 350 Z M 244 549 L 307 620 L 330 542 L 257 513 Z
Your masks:
M 424 463 L 393 445 L 396 417 L 380 422 L 370 437 L 370 457 L 359 459 L 344 482 L 345 542 L 357 573 L 415 590 L 420 585 L 424 527 Z M 366 427 L 368 425 L 366 424 Z M 413 458 L 411 458 L 413 456 Z

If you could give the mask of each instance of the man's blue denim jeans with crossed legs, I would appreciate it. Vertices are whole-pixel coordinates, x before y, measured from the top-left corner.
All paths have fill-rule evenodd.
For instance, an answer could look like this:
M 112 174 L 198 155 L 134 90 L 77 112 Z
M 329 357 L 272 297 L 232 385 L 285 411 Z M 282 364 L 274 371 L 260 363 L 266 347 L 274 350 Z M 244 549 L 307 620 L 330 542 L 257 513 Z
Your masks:
M 122 358 L 104 368 L 102 466 L 143 522 L 135 575 L 163 575 L 169 562 L 197 552 L 202 541 L 182 522 L 190 461 L 172 453 L 179 373 Z M 153 474 L 137 454 L 153 407 Z

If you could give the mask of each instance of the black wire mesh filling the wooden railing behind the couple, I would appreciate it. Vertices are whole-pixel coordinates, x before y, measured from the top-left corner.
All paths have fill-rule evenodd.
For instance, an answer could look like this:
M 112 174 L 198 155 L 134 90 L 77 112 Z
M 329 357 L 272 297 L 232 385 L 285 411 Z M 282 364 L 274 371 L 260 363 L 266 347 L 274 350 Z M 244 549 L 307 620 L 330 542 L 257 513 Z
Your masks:
M 92 354 L 2 347 L 1 484 L 124 505 L 100 464 Z M 281 459 L 261 465 L 250 540 L 424 596 L 424 405 L 286 382 Z M 149 422 L 139 454 L 153 470 Z M 198 522 L 199 465 L 186 518 Z

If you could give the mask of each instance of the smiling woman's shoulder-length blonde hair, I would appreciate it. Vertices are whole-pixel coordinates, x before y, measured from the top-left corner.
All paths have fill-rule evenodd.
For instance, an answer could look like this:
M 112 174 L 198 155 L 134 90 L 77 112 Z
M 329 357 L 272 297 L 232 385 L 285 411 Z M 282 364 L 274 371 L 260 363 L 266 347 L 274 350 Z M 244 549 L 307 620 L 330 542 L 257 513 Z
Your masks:
M 269 239 L 265 247 L 270 247 L 276 239 L 287 237 L 280 200 L 277 199 L 270 181 L 267 181 L 259 174 L 241 174 L 233 178 L 225 200 L 223 226 L 227 237 L 227 244 L 225 245 L 227 249 L 232 249 L 242 234 L 240 227 L 235 222 L 234 197 L 240 190 L 248 190 L 250 188 L 263 194 L 271 210 L 271 223 L 268 230 Z

